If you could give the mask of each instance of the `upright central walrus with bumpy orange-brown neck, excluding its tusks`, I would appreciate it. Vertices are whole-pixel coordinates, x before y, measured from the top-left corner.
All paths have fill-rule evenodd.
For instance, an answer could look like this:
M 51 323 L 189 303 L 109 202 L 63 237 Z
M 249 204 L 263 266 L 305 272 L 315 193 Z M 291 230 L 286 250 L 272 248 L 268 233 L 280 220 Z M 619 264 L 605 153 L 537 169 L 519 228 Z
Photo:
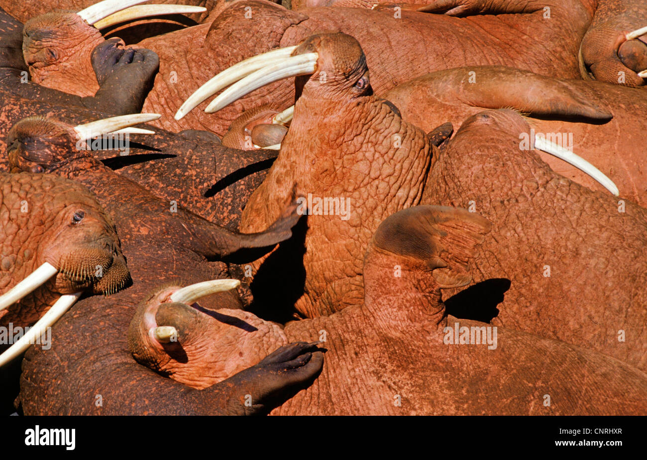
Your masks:
M 309 216 L 307 231 L 300 225 L 296 238 L 254 264 L 256 300 L 294 304 L 302 317 L 361 301 L 363 258 L 373 232 L 390 214 L 419 204 L 435 156 L 421 129 L 371 94 L 366 59 L 353 37 L 316 35 L 296 52 L 313 50 L 318 70 L 303 85 L 280 154 L 241 219 L 243 231 L 272 222 L 280 196 L 294 184 L 305 197 L 337 197 L 347 204 L 342 209 L 338 200 L 335 214 Z M 320 72 L 327 78 L 320 79 Z M 273 287 L 277 282 L 281 291 Z

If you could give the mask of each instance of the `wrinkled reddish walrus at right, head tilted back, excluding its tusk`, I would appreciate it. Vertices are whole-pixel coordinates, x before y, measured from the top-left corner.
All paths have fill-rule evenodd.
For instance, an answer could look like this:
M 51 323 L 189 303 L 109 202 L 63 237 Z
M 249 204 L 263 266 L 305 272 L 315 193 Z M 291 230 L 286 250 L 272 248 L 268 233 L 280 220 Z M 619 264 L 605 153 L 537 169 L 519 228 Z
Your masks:
M 529 125 L 512 110 L 463 123 L 434 165 L 426 203 L 469 205 L 492 222 L 463 307 L 490 289 L 472 315 L 585 346 L 647 369 L 647 211 L 593 192 L 520 151 Z M 496 286 L 496 280 L 509 280 Z M 480 290 L 479 290 L 480 289 Z M 480 297 L 479 297 L 480 296 Z M 498 304 L 498 305 L 496 305 Z

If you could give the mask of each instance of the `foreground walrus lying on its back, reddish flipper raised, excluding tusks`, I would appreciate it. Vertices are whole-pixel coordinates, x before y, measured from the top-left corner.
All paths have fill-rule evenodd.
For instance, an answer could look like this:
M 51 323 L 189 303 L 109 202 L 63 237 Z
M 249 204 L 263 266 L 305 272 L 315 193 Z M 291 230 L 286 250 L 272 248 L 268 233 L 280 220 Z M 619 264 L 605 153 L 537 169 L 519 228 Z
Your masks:
M 468 261 L 489 226 L 465 210 L 400 211 L 380 225 L 367 251 L 364 302 L 331 317 L 291 322 L 284 331 L 245 312 L 209 315 L 151 302 L 157 322 L 179 328 L 173 346 L 186 344 L 190 352 L 178 361 L 172 348 L 151 343 L 138 316 L 131 350 L 147 366 L 208 391 L 223 377 L 214 375 L 212 363 L 235 368 L 276 342 L 318 340 L 325 332 L 321 375 L 272 412 L 277 415 L 644 413 L 647 377 L 600 353 L 504 328 L 492 350 L 443 342 L 446 326 L 488 326 L 447 316 L 440 289 L 470 280 Z M 550 406 L 543 404 L 546 394 Z

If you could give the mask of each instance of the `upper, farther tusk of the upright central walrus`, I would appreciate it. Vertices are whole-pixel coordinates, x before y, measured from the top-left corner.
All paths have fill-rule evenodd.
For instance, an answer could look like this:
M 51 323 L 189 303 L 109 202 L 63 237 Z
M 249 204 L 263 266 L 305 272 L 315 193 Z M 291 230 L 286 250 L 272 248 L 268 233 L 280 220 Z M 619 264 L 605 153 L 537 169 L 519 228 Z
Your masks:
M 205 99 L 217 93 L 219 90 L 228 87 L 232 83 L 236 83 L 241 78 L 247 77 L 252 72 L 256 72 L 259 68 L 267 67 L 278 61 L 287 58 L 296 50 L 296 45 L 293 47 L 279 48 L 278 50 L 268 51 L 258 56 L 240 61 L 232 67 L 226 68 L 214 78 L 210 79 L 204 85 L 199 87 L 195 92 L 189 96 L 182 104 L 180 109 L 175 114 L 175 120 L 181 120 L 188 112 L 195 109 Z

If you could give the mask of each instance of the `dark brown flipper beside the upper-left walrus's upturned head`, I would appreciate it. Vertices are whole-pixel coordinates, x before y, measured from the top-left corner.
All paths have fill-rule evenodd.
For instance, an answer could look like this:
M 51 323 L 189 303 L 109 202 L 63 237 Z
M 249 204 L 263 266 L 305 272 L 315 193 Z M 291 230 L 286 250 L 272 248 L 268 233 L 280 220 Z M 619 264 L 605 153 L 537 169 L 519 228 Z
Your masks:
M 100 85 L 92 108 L 111 114 L 138 113 L 153 88 L 159 57 L 151 50 L 124 48 L 120 39 L 110 39 L 94 48 L 92 67 Z

